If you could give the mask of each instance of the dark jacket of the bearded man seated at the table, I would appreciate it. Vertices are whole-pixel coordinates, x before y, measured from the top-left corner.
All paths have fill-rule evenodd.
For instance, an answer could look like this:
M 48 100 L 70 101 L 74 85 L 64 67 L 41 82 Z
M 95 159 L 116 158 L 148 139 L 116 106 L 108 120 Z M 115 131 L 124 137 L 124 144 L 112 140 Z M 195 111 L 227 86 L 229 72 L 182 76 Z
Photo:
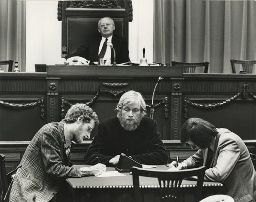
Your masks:
M 135 131 L 124 130 L 118 118 L 104 120 L 98 125 L 98 134 L 90 144 L 85 162 L 107 165 L 108 161 L 125 153 L 141 164 L 166 164 L 168 153 L 157 129 L 157 122 L 143 117 Z

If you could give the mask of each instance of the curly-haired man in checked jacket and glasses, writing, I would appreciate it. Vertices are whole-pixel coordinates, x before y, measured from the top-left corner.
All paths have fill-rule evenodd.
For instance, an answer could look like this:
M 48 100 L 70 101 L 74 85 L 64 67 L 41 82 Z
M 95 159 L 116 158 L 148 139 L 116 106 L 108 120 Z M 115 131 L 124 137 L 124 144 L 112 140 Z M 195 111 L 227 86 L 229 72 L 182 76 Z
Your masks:
M 5 196 L 6 202 L 36 202 L 53 199 L 68 177 L 98 175 L 105 172 L 103 164 L 78 168 L 69 161 L 71 141 L 82 143 L 98 124 L 98 116 L 84 104 L 73 105 L 65 119 L 48 123 L 33 137 L 27 147 Z

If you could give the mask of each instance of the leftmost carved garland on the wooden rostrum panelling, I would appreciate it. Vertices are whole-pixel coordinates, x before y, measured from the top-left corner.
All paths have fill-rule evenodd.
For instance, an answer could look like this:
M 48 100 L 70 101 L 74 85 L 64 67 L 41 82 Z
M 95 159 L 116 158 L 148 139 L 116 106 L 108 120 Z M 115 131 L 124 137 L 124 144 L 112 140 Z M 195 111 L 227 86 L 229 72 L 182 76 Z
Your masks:
M 23 104 L 14 104 L 14 103 L 4 102 L 4 101 L 0 100 L 0 105 L 5 106 L 5 107 L 18 108 L 18 109 L 31 108 L 31 107 L 34 107 L 36 105 L 40 105 L 40 118 L 45 119 L 45 104 L 44 104 L 44 101 L 45 100 L 44 100 L 43 97 L 38 99 L 38 101 L 36 101 L 36 102 L 23 103 Z

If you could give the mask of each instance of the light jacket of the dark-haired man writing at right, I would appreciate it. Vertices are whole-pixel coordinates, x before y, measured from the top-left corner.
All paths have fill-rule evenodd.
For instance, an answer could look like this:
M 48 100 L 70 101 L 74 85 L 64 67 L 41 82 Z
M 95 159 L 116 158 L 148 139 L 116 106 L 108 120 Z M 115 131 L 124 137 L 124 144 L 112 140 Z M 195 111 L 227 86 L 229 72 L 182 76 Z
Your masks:
M 248 149 L 242 139 L 226 128 L 217 128 L 215 148 L 205 180 L 222 182 L 222 194 L 232 196 L 235 202 L 256 202 L 256 172 Z M 205 150 L 184 162 L 188 168 L 203 165 Z

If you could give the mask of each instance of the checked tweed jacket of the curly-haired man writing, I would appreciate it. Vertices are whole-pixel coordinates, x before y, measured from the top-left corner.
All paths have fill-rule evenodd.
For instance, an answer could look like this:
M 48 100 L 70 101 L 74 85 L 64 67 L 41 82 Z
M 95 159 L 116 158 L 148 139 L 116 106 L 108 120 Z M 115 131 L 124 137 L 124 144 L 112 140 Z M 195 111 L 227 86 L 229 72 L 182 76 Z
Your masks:
M 64 144 L 64 121 L 43 126 L 31 140 L 18 166 L 5 200 L 48 202 L 68 177 L 81 177 L 79 168 L 70 167 Z

